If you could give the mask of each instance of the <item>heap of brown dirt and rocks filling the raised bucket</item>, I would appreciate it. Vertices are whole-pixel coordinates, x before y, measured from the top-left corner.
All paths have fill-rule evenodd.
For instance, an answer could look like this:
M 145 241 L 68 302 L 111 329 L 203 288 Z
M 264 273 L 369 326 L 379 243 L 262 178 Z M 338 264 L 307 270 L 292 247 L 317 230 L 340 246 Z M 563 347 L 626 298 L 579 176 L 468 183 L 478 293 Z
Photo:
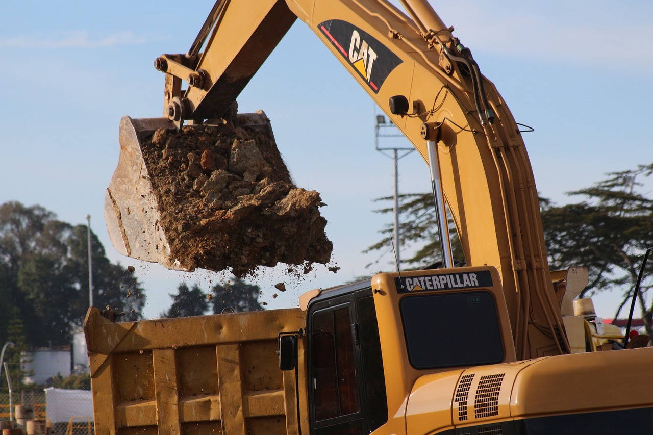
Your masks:
M 328 263 L 319 193 L 291 181 L 274 139 L 225 123 L 157 130 L 142 143 L 172 256 L 189 270 Z

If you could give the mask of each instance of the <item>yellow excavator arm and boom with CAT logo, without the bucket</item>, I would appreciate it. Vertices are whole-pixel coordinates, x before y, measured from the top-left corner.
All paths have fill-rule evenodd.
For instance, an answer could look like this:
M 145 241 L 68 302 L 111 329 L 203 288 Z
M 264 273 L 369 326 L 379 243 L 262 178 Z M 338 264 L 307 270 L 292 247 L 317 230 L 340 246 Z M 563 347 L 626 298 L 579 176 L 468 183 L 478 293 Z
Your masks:
M 164 117 L 179 126 L 233 116 L 240 91 L 299 18 L 427 163 L 430 144 L 466 263 L 500 272 L 517 358 L 568 353 L 517 123 L 453 27 L 426 0 L 400 3 L 408 15 L 383 0 L 219 0 L 187 54 L 155 61 L 166 73 Z

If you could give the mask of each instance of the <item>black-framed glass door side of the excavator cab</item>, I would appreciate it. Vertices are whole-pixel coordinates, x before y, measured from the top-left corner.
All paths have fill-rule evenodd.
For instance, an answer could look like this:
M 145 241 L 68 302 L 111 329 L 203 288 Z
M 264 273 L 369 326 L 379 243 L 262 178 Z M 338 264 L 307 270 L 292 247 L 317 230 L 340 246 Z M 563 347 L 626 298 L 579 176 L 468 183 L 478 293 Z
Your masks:
M 371 289 L 316 303 L 308 326 L 311 433 L 369 434 L 387 421 Z

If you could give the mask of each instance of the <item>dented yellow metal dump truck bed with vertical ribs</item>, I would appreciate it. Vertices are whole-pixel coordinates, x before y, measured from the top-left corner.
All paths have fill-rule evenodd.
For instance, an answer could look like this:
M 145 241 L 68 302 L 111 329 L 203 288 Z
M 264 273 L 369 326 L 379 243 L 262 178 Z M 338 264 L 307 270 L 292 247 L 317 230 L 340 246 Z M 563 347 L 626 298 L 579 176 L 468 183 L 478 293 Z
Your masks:
M 95 433 L 297 433 L 295 372 L 279 370 L 277 337 L 303 327 L 299 309 L 125 323 L 89 309 Z M 306 421 L 301 356 L 298 373 Z

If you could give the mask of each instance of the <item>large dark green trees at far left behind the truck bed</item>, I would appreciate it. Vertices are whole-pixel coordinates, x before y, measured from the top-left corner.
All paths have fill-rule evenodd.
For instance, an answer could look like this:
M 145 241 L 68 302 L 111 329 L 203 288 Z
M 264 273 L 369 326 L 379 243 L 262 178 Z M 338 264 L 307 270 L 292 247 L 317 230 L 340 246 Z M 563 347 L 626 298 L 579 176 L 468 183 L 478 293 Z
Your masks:
M 7 340 L 10 314 L 18 308 L 27 345 L 71 343 L 72 329 L 88 310 L 87 234 L 86 225 L 59 221 L 40 206 L 0 205 L 0 342 Z M 91 259 L 95 305 L 139 318 L 144 304 L 140 284 L 133 272 L 108 261 L 93 233 Z

